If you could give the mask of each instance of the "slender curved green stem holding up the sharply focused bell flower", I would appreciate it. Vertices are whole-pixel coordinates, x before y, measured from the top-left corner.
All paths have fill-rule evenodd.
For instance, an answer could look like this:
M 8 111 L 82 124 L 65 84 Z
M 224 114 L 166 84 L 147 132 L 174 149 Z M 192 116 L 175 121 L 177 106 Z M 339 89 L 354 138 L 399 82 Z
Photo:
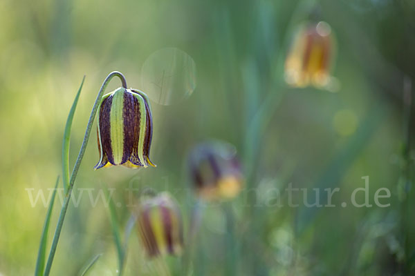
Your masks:
M 81 161 L 82 161 L 82 158 L 84 157 L 84 153 L 85 153 L 85 150 L 86 150 L 86 145 L 88 144 L 88 140 L 89 140 L 89 135 L 91 135 L 91 129 L 92 129 L 93 121 L 95 119 L 95 115 L 96 115 L 97 110 L 98 110 L 98 106 L 100 105 L 100 101 L 101 101 L 102 95 L 104 94 L 105 88 L 107 88 L 109 81 L 111 81 L 111 79 L 113 77 L 120 78 L 121 83 L 122 83 L 122 87 L 127 88 L 127 81 L 125 81 L 124 75 L 122 75 L 118 71 L 114 71 L 114 72 L 111 72 L 108 75 L 108 77 L 104 80 L 104 83 L 102 83 L 102 86 L 100 88 L 100 92 L 98 92 L 97 99 L 95 99 L 95 103 L 93 105 L 91 115 L 89 116 L 88 125 L 86 126 L 84 141 L 82 141 L 82 146 L 81 146 L 81 149 L 80 149 L 80 153 L 77 156 L 75 166 L 73 166 L 71 179 L 69 179 L 69 187 L 68 187 L 68 190 L 66 190 L 66 195 L 65 195 L 65 198 L 64 198 L 64 204 L 62 205 L 62 209 L 61 209 L 61 212 L 59 214 L 59 219 L 57 221 L 55 235 L 53 236 L 52 246 L 50 246 L 50 253 L 49 253 L 48 262 L 46 263 L 46 268 L 45 268 L 45 273 L 44 273 L 45 276 L 49 275 L 50 268 L 51 268 L 52 262 L 53 262 L 53 257 L 55 257 L 57 242 L 59 242 L 59 237 L 60 237 L 60 233 L 62 231 L 62 226 L 64 224 L 66 210 L 68 210 L 69 199 L 71 198 L 73 185 L 75 184 L 75 179 L 76 179 L 76 176 L 77 176 L 77 172 L 80 169 Z

